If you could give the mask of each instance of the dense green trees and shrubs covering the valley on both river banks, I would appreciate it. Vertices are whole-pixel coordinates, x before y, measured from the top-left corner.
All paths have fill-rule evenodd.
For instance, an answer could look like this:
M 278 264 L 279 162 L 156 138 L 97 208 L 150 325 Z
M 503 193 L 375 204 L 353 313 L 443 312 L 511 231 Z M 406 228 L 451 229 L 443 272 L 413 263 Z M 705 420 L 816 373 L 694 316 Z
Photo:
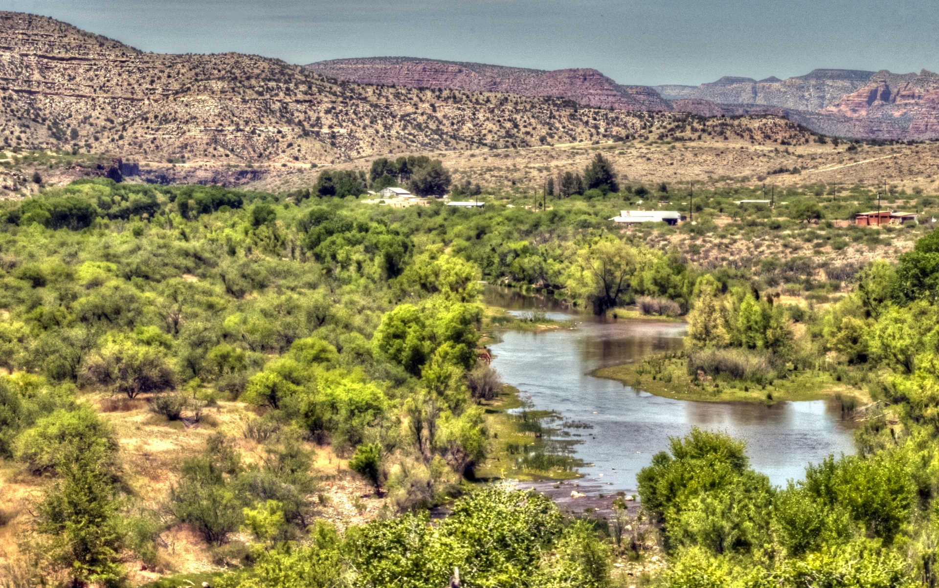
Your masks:
M 404 163 L 412 178 L 439 179 L 429 159 Z M 21 546 L 28 581 L 118 582 L 129 553 L 155 565 L 160 533 L 185 522 L 244 566 L 226 586 L 430 587 L 454 569 L 468 586 L 608 585 L 623 520 L 607 529 L 536 494 L 470 484 L 494 446 L 515 443 L 492 443 L 486 424 L 500 384 L 478 359 L 484 325 L 498 323 L 479 301 L 485 279 L 597 313 L 635 302 L 686 314 L 680 365 L 702 390 L 746 386 L 763 399 L 779 381 L 824 375 L 873 400 L 858 454 L 809 465 L 786 489 L 748 467 L 740 442 L 705 431 L 674 440 L 640 479 L 670 561 L 654 581 L 932 585 L 939 236 L 897 228 L 925 236 L 899 264 L 841 267 L 840 279 L 831 267 L 819 279 L 804 259 L 707 268 L 647 239 L 706 236 L 696 232 L 717 213 L 736 219 L 719 231 L 740 234 L 876 230 L 811 224 L 849 214 L 835 189 L 831 202 L 793 193 L 775 210 L 721 210 L 728 194 L 696 194 L 699 224 L 620 234 L 609 217 L 650 190 L 617 180 L 602 158 L 580 177 L 593 188 L 546 211 L 506 205 L 524 196 L 483 210 L 348 197 L 355 182 L 403 181 L 401 162 L 378 168 L 332 174 L 332 193 L 325 179 L 280 195 L 93 180 L 4 205 L 0 456 L 42 481 Z M 842 294 L 824 309 L 783 304 L 789 283 Z M 243 435 L 259 449 L 242 455 L 209 435 L 148 510 L 89 401 L 102 392 L 146 400 L 168 423 L 208 423 L 207 407 L 246 402 L 257 416 Z M 387 497 L 379 520 L 340 532 L 311 515 L 310 443 Z M 517 460 L 559 476 L 570 467 L 524 448 Z M 443 503 L 453 515 L 429 524 L 425 507 Z

